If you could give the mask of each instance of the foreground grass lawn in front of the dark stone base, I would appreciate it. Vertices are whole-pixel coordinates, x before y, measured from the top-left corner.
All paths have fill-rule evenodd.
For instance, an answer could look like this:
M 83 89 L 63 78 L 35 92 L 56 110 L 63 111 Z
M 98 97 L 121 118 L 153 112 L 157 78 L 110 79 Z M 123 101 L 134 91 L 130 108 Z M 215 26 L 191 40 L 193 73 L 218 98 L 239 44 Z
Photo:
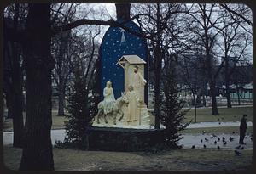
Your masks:
M 245 171 L 252 169 L 253 150 L 180 149 L 148 154 L 53 149 L 55 171 Z M 21 149 L 3 147 L 9 169 L 20 166 Z

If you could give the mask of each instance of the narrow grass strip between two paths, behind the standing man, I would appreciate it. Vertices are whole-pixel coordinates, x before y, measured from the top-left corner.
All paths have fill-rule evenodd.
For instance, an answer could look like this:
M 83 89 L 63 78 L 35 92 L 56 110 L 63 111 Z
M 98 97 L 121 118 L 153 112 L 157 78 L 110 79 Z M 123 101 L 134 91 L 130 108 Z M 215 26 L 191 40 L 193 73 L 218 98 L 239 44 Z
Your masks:
M 239 126 L 227 126 L 227 127 L 206 127 L 206 128 L 193 128 L 193 129 L 185 129 L 180 133 L 201 133 L 205 131 L 208 134 L 220 134 L 220 133 L 227 133 L 232 134 L 239 134 Z M 247 126 L 247 134 L 253 133 L 253 126 Z

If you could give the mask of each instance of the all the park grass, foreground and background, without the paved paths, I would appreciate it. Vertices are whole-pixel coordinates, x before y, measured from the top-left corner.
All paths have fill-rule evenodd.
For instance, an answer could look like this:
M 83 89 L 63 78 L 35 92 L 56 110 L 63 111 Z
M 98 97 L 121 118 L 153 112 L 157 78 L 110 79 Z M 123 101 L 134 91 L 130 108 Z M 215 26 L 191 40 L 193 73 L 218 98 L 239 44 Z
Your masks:
M 211 115 L 211 109 L 197 109 L 197 122 L 236 122 L 241 115 L 247 114 L 247 121 L 253 121 L 253 107 L 220 108 L 220 115 Z M 67 118 L 57 116 L 53 110 L 52 129 L 63 129 Z M 194 118 L 194 110 L 190 109 L 185 122 Z M 5 132 L 12 131 L 12 121 L 4 121 Z M 239 135 L 239 126 L 188 128 L 181 133 L 201 134 L 212 133 Z M 253 126 L 247 127 L 252 134 Z M 189 146 L 190 147 L 190 146 Z M 3 160 L 9 169 L 17 170 L 20 166 L 22 150 L 11 145 L 3 146 Z M 81 151 L 76 149 L 53 149 L 55 171 L 241 171 L 251 170 L 253 149 L 241 150 L 237 156 L 234 149 L 179 149 L 161 151 L 156 154 L 143 152 L 102 152 Z M 111 159 L 111 160 L 110 160 Z

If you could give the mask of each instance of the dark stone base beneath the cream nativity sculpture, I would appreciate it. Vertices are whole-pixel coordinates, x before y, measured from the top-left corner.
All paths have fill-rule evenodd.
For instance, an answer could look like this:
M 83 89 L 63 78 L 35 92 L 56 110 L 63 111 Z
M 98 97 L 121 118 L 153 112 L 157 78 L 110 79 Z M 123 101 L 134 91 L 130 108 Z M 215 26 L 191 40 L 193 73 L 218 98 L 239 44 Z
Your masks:
M 163 130 L 90 127 L 89 150 L 142 151 L 163 142 Z

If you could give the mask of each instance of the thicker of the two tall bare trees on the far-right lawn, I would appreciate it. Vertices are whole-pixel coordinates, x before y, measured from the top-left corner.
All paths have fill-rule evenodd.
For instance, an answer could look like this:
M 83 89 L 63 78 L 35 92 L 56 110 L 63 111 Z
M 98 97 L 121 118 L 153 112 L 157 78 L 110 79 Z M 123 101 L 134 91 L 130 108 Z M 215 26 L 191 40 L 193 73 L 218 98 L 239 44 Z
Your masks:
M 214 13 L 219 12 L 216 4 L 192 4 L 187 7 L 187 14 L 191 16 L 189 30 L 193 31 L 201 39 L 201 46 L 204 50 L 202 69 L 207 74 L 212 98 L 212 115 L 218 115 L 216 100 L 216 79 L 224 62 L 218 65 L 218 59 L 214 57 L 214 46 L 218 33 L 224 30 L 227 25 L 222 25 L 222 16 Z M 218 29 L 217 29 L 218 28 Z

